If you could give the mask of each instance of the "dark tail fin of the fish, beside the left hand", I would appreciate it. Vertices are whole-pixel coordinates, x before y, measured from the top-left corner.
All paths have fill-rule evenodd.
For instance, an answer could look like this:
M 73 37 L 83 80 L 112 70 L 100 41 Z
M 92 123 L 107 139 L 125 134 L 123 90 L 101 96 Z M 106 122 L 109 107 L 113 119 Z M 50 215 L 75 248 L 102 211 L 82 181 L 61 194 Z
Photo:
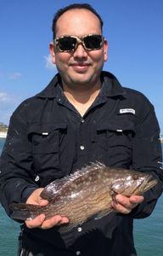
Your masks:
M 41 206 L 37 205 L 14 203 L 9 206 L 10 211 L 12 211 L 10 217 L 21 220 L 36 218 L 41 214 L 41 208 Z

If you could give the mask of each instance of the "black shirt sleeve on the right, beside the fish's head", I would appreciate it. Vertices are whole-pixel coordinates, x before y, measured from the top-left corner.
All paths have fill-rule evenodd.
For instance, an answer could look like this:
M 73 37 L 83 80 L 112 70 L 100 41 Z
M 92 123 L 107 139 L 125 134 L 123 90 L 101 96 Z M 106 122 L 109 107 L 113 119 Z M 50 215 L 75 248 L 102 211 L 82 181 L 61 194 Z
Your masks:
M 144 193 L 144 201 L 129 214 L 133 218 L 145 218 L 153 212 L 163 189 L 160 127 L 155 109 L 148 100 L 141 108 L 132 143 L 132 168 L 139 172 L 150 172 L 158 179 L 155 187 Z

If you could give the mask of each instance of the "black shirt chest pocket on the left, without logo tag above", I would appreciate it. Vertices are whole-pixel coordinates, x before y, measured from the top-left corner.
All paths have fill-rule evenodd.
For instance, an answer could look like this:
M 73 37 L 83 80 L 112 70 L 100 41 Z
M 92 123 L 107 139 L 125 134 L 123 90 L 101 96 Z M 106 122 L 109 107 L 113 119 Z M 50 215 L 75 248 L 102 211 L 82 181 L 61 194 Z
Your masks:
M 33 124 L 28 132 L 32 144 L 34 172 L 39 177 L 59 178 L 62 176 L 59 162 L 59 141 L 65 132 L 65 123 Z M 45 174 L 46 171 L 46 174 Z M 49 178 L 48 178 L 49 177 Z

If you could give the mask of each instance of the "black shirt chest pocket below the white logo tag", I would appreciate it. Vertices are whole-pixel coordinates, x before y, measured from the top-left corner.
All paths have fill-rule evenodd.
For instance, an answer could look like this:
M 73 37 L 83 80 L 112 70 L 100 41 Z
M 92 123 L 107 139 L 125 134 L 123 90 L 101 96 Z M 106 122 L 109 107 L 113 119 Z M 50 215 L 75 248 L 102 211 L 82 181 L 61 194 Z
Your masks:
M 130 120 L 105 119 L 97 126 L 98 145 L 110 166 L 129 167 L 132 160 L 132 137 L 135 128 Z

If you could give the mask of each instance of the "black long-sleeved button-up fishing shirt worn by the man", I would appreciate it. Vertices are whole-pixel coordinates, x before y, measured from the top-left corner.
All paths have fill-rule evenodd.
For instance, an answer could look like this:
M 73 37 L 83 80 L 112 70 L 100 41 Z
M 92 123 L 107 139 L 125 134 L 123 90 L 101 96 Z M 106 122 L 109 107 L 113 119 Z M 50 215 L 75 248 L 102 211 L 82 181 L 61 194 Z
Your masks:
M 102 88 L 82 117 L 62 91 L 59 74 L 37 96 L 22 102 L 11 117 L 1 158 L 1 202 L 10 214 L 12 202 L 99 160 L 106 166 L 151 172 L 155 188 L 130 214 L 88 220 L 59 234 L 25 227 L 23 245 L 33 255 L 136 255 L 133 218 L 149 216 L 162 192 L 160 128 L 149 100 L 121 87 L 111 73 L 101 75 Z M 42 253 L 42 254 L 39 254 Z

